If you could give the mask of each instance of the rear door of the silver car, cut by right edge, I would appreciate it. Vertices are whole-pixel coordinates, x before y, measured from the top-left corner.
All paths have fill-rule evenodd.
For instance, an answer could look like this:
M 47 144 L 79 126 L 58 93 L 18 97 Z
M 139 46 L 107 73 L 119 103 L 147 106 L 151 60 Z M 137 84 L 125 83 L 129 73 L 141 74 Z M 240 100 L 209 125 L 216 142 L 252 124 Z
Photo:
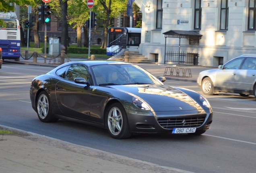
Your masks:
M 256 58 L 246 58 L 240 70 L 236 73 L 238 82 L 236 89 L 250 91 L 256 78 Z

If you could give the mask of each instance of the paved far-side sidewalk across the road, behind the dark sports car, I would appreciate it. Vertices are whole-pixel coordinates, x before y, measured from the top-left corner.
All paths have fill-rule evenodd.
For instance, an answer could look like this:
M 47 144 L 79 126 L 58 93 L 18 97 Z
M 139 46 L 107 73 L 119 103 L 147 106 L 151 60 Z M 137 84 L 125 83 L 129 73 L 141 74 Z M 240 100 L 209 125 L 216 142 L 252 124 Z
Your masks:
M 58 58 L 57 58 L 58 59 Z M 88 58 L 69 58 L 71 61 L 86 61 Z M 89 59 L 90 61 L 91 59 Z M 98 60 L 107 60 L 106 58 L 98 58 Z M 23 58 L 20 58 L 20 61 L 14 61 L 14 60 L 5 60 L 4 63 L 17 63 L 17 64 L 25 64 L 25 65 L 38 65 L 38 66 L 59 66 L 60 64 L 53 64 L 53 60 L 51 60 L 51 64 L 49 64 L 48 58 L 45 60 L 44 58 L 37 58 L 37 63 L 33 63 L 33 57 L 29 60 L 25 60 Z M 46 62 L 46 63 L 45 63 Z M 56 60 L 58 62 L 58 60 Z M 67 62 L 67 59 L 65 59 L 65 62 Z M 165 68 L 166 67 L 177 67 L 177 68 L 189 68 L 191 70 L 192 77 L 175 77 L 175 76 L 169 76 L 170 72 L 168 70 L 167 76 L 164 76 L 167 80 L 182 80 L 186 82 L 196 82 L 196 79 L 198 77 L 198 74 L 201 71 L 209 70 L 217 67 L 205 67 L 205 66 L 171 66 L 169 64 L 155 64 L 155 63 L 138 63 L 138 66 L 148 70 L 151 72 L 154 76 L 164 76 Z M 176 72 L 173 72 L 173 75 L 176 75 Z M 180 72 L 180 76 L 182 76 L 182 72 Z M 186 71 L 186 76 L 190 76 L 188 73 L 188 70 Z

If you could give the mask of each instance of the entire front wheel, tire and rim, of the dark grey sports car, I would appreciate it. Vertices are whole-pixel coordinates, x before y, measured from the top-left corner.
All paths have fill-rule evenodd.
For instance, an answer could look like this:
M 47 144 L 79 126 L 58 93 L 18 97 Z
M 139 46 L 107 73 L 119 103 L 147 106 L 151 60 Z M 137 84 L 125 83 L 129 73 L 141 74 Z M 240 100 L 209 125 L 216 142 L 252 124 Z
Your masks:
M 114 103 L 107 109 L 105 122 L 109 135 L 114 139 L 127 139 L 132 135 L 126 112 L 120 103 Z

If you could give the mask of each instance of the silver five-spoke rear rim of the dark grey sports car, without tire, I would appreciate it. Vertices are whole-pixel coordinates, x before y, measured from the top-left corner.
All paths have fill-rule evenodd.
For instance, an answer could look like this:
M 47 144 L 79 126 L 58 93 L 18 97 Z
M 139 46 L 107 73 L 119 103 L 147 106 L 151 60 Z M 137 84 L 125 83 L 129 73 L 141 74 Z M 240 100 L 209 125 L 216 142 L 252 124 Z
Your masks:
M 49 101 L 46 95 L 40 95 L 37 101 L 37 113 L 41 119 L 45 119 L 48 114 Z

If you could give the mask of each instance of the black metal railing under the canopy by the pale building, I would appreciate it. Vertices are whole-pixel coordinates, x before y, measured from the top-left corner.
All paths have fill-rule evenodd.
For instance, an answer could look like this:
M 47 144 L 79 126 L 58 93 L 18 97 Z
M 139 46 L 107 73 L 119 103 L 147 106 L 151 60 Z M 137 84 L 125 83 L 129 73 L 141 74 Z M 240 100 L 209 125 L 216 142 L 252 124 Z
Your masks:
M 198 65 L 198 53 L 165 52 L 165 64 Z

